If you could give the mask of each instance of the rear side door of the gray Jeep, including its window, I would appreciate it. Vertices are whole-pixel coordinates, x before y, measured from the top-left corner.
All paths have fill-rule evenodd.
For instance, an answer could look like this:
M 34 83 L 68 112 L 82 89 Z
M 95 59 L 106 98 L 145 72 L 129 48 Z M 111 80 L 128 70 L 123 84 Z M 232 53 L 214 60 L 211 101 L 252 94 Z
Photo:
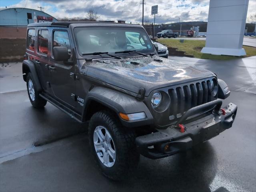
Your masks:
M 49 30 L 47 28 L 38 28 L 37 32 L 37 56 L 34 58 L 37 71 L 39 73 L 40 82 L 44 91 L 49 92 L 50 75 L 48 63 L 50 58 L 49 53 Z

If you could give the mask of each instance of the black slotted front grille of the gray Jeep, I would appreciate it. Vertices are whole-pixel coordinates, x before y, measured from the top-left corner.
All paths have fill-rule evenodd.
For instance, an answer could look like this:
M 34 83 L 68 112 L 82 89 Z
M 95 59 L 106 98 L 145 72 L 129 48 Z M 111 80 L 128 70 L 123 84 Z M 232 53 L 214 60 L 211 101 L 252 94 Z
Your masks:
M 193 82 L 168 90 L 171 98 L 170 120 L 180 118 L 188 109 L 210 102 L 216 98 L 211 94 L 212 80 Z

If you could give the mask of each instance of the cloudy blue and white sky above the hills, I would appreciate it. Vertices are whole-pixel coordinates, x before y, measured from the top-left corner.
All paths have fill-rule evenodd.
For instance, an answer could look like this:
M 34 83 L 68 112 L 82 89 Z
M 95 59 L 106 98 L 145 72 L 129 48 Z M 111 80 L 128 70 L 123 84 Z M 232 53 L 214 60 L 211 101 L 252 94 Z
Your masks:
M 151 6 L 158 5 L 156 24 L 207 21 L 210 0 L 144 0 L 144 20 L 154 22 Z M 142 0 L 0 0 L 0 8 L 26 7 L 39 9 L 55 18 L 86 18 L 87 11 L 93 9 L 99 20 L 125 20 L 142 22 Z M 256 14 L 256 0 L 249 0 L 247 22 Z

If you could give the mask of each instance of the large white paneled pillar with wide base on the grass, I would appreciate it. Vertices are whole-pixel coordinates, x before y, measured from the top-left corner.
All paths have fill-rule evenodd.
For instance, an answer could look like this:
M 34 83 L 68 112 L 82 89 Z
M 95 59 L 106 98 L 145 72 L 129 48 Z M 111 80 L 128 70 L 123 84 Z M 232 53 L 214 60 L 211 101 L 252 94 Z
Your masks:
M 202 53 L 246 55 L 242 48 L 249 0 L 210 0 Z

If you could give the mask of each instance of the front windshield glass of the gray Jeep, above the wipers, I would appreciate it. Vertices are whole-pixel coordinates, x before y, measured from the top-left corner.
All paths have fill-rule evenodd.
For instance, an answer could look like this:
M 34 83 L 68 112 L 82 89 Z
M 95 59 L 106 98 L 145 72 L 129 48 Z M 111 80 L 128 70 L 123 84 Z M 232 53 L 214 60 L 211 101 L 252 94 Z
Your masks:
M 94 52 L 114 54 L 124 50 L 154 52 L 154 46 L 143 28 L 76 27 L 74 34 L 80 55 Z

